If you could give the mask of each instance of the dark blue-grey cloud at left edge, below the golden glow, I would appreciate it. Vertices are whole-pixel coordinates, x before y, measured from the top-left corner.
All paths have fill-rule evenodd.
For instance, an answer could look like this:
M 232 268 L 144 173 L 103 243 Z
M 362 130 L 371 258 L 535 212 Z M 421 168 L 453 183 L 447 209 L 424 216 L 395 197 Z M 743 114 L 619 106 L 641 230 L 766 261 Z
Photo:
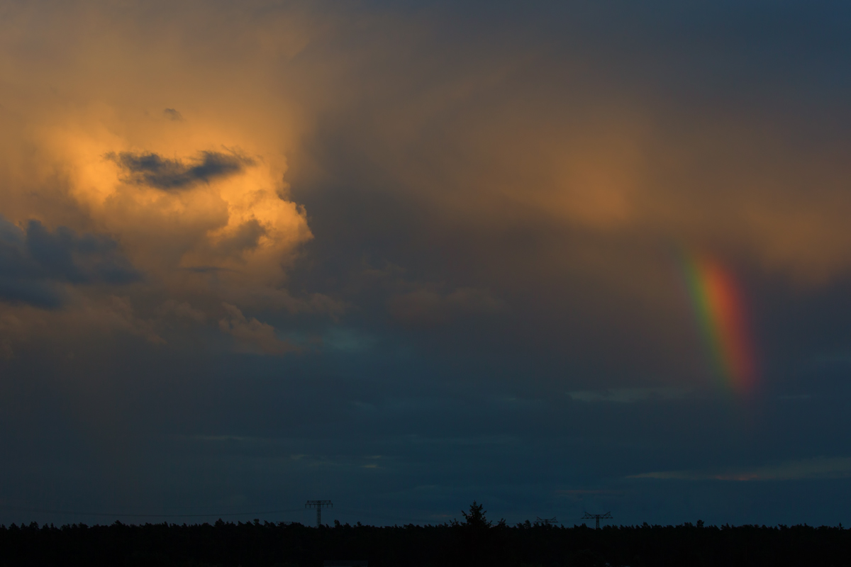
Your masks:
M 22 230 L 0 217 L 0 300 L 56 308 L 60 284 L 124 285 L 140 274 L 106 235 L 60 226 L 53 232 L 37 220 Z

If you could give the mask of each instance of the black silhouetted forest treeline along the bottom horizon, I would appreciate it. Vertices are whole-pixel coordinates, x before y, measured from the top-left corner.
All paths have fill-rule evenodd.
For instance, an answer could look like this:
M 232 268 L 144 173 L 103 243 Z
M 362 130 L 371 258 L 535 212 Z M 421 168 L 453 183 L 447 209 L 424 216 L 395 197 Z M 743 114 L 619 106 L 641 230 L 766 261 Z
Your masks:
M 807 525 L 583 526 L 465 522 L 432 526 L 144 524 L 0 528 L 0 565 L 319 567 L 368 559 L 374 567 L 426 565 L 851 565 L 851 530 Z

